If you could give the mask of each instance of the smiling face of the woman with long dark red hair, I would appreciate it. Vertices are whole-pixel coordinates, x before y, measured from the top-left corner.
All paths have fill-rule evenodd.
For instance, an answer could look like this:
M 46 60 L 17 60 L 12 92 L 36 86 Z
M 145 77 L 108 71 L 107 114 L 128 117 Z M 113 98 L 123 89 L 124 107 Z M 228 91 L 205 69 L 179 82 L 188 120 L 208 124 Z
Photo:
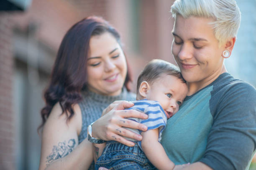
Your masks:
M 92 36 L 87 59 L 88 88 L 101 95 L 121 93 L 127 65 L 123 50 L 113 35 Z

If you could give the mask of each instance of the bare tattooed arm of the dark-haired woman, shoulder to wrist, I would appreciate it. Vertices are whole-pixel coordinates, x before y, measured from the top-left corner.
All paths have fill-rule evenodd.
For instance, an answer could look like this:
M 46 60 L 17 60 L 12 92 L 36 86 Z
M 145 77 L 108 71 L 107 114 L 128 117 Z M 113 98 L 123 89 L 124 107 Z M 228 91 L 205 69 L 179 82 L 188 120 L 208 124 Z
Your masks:
M 93 147 L 87 139 L 78 145 L 78 134 L 82 129 L 79 105 L 74 105 L 75 114 L 68 122 L 67 115 L 61 115 L 61 112 L 58 103 L 44 125 L 39 170 L 88 169 L 93 159 Z

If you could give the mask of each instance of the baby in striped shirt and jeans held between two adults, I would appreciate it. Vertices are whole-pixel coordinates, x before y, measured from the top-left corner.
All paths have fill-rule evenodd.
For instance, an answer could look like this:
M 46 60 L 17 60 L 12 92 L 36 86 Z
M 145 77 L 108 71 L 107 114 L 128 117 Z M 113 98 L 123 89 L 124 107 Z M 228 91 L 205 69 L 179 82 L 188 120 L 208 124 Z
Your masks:
M 186 81 L 179 68 L 164 60 L 152 60 L 138 77 L 137 96 L 134 106 L 129 108 L 145 112 L 148 119 L 130 118 L 148 127 L 146 132 L 129 129 L 141 134 L 143 139 L 134 141 L 134 147 L 128 147 L 116 141 L 108 141 L 95 163 L 108 169 L 159 169 L 177 170 L 185 165 L 174 165 L 162 147 L 161 134 L 168 118 L 179 110 L 188 92 Z M 102 151 L 105 144 L 95 144 Z M 101 152 L 100 152 L 101 153 Z

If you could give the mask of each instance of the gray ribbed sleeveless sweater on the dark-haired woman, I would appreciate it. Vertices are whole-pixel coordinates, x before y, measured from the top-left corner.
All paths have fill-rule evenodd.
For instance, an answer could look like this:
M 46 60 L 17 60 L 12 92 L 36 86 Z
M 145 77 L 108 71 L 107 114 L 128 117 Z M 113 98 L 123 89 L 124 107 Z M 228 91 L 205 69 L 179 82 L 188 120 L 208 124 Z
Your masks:
M 92 122 L 100 118 L 102 111 L 115 100 L 134 101 L 136 95 L 128 92 L 124 87 L 121 94 L 118 96 L 99 95 L 95 92 L 86 90 L 82 92 L 83 100 L 79 103 L 82 112 L 82 130 L 78 136 L 78 141 L 81 143 L 87 137 L 87 127 Z

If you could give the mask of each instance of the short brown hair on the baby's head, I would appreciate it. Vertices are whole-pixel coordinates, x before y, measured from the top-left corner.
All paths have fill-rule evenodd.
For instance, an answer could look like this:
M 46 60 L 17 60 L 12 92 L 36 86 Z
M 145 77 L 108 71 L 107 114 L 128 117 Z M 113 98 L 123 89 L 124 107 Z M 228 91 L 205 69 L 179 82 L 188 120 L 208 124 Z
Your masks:
M 186 83 L 186 80 L 184 80 L 184 78 L 182 77 L 179 67 L 173 65 L 170 62 L 156 59 L 148 62 L 144 70 L 139 75 L 137 81 L 137 94 L 139 92 L 141 82 L 146 81 L 148 82 L 148 84 L 152 84 L 157 78 L 161 77 L 161 75 L 163 74 L 173 75 L 179 78 L 183 83 Z

